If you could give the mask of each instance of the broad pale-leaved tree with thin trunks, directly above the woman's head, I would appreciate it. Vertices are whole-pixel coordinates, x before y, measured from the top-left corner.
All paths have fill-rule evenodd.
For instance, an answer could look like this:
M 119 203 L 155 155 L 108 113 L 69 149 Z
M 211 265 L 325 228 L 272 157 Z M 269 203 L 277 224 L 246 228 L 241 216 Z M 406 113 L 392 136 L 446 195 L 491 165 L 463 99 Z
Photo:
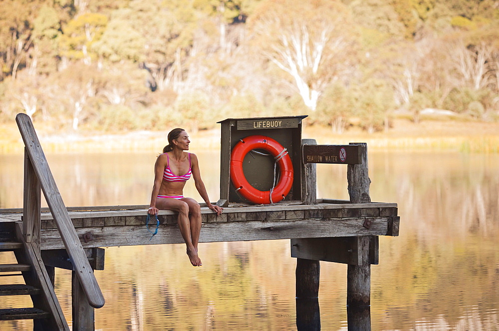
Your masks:
M 176 90 L 187 69 L 197 23 L 194 9 L 184 1 L 132 0 L 129 7 L 113 13 L 97 49 L 113 60 L 126 56 L 143 62 L 159 90 Z

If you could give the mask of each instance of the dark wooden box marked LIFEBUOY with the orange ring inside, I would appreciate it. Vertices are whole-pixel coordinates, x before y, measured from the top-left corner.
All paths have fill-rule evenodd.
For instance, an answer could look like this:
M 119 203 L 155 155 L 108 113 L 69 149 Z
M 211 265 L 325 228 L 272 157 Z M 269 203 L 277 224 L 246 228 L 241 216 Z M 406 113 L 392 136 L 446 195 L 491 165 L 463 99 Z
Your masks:
M 301 122 L 305 117 L 218 122 L 222 124 L 220 199 L 248 204 L 301 201 Z

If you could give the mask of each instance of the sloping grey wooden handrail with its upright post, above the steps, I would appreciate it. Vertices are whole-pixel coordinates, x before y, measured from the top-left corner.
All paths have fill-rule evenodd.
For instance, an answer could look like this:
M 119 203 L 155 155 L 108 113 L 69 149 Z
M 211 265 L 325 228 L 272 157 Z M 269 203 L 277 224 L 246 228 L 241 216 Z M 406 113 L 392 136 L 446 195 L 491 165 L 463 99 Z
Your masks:
M 39 246 L 40 188 L 52 216 L 57 224 L 64 247 L 71 259 L 75 274 L 80 282 L 88 303 L 94 308 L 104 306 L 105 300 L 97 284 L 94 273 L 83 251 L 78 235 L 71 223 L 62 197 L 48 167 L 47 159 L 40 146 L 31 119 L 20 113 L 15 121 L 24 142 L 24 206 L 23 234 L 27 243 L 36 242 Z

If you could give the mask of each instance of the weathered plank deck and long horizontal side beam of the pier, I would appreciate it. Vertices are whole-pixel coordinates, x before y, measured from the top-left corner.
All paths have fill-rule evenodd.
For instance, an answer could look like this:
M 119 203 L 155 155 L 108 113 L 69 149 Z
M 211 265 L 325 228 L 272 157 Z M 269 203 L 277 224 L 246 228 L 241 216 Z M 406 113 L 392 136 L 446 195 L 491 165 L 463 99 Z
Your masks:
M 82 247 L 86 248 L 184 242 L 176 225 L 177 215 L 172 211 L 160 211 L 158 234 L 149 241 L 151 236 L 145 227 L 147 206 L 143 207 L 131 210 L 70 211 L 68 214 Z M 95 207 L 80 209 L 91 208 Z M 22 213 L 21 210 L 16 211 L 3 213 L 0 210 L 0 224 L 2 220 L 19 220 Z M 392 229 L 398 229 L 399 222 L 396 216 L 397 204 L 394 203 L 226 207 L 220 216 L 202 207 L 201 213 L 204 223 L 201 242 L 398 235 L 398 232 L 392 232 Z M 370 229 L 363 226 L 366 219 L 372 222 Z M 63 248 L 51 213 L 42 213 L 41 223 L 41 248 Z M 85 233 L 92 234 L 94 239 L 85 242 Z

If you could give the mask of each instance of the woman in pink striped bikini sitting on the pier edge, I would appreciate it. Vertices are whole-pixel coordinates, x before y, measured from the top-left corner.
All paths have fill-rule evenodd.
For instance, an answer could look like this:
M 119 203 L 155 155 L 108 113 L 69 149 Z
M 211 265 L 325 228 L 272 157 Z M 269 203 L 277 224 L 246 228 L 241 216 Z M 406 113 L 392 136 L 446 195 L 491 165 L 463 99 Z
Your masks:
M 151 215 L 158 214 L 159 210 L 173 210 L 179 213 L 177 223 L 187 245 L 187 255 L 192 265 L 199 267 L 202 265 L 198 256 L 201 207 L 196 200 L 184 197 L 183 194 L 186 181 L 191 175 L 208 208 L 217 215 L 222 213 L 222 208 L 212 205 L 208 199 L 196 154 L 184 152 L 189 150 L 190 142 L 184 129 L 173 129 L 168 134 L 168 145 L 156 160 L 151 205 L 147 212 Z

